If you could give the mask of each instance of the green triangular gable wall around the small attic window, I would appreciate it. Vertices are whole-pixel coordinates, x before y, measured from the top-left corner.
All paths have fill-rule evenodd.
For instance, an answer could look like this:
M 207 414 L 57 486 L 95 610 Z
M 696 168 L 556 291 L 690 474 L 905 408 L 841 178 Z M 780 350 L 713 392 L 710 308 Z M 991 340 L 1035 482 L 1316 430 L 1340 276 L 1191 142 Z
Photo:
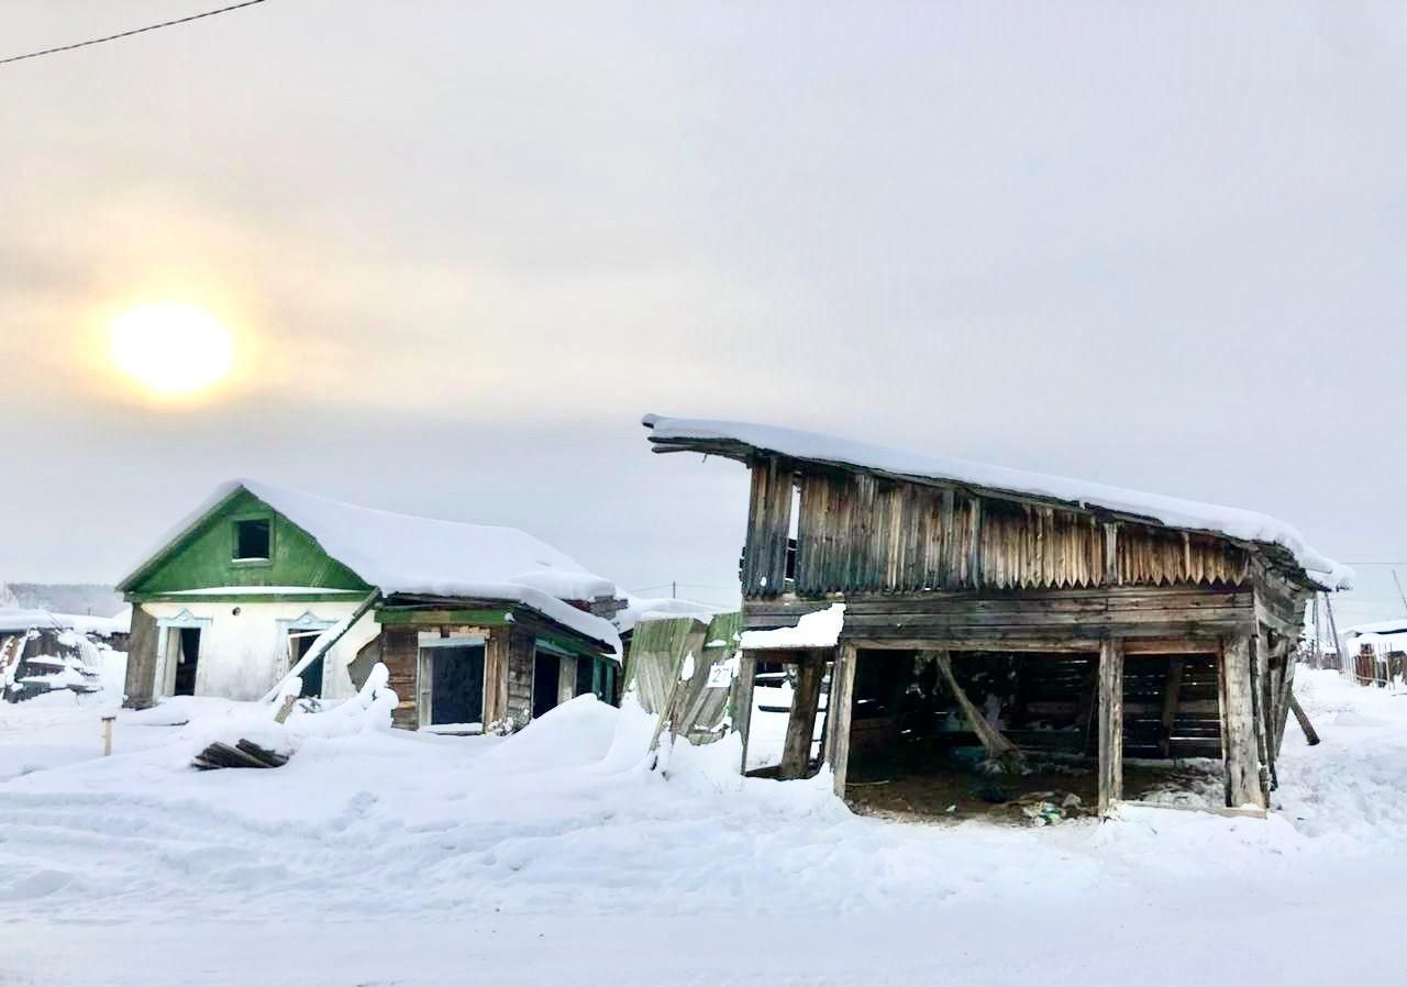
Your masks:
M 273 520 L 270 561 L 234 560 L 235 522 L 246 517 Z M 167 546 L 121 589 L 132 596 L 148 596 L 211 586 L 371 589 L 322 551 L 307 531 L 245 489 L 236 491 L 191 531 Z

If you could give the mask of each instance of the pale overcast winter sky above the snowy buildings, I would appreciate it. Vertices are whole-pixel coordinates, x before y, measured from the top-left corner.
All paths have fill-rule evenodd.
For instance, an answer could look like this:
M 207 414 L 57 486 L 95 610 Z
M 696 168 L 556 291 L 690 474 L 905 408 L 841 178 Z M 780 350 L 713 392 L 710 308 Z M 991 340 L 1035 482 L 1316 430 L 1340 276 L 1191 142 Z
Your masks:
M 0 66 L 0 579 L 259 477 L 727 602 L 746 472 L 658 412 L 1262 510 L 1407 613 L 1396 4 L 267 0 Z M 228 381 L 124 378 L 155 301 Z

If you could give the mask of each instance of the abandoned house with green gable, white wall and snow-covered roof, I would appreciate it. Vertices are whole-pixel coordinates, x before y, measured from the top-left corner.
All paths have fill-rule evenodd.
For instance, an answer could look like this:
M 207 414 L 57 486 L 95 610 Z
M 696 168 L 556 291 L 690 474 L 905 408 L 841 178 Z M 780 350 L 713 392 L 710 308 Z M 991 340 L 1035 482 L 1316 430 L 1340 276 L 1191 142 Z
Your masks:
M 236 481 L 118 589 L 134 605 L 128 706 L 252 700 L 291 675 L 304 696 L 345 699 L 378 661 L 408 728 L 511 728 L 615 695 L 615 583 L 511 527 Z

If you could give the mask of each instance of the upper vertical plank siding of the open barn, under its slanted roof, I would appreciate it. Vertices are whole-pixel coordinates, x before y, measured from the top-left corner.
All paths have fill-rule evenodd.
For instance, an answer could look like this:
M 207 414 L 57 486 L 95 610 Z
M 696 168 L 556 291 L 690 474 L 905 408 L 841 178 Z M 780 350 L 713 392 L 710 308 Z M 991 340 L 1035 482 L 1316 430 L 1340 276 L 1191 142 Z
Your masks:
M 787 546 L 799 488 L 795 581 Z M 1235 585 L 1249 554 L 1224 538 L 1093 513 L 822 470 L 753 465 L 743 595 Z

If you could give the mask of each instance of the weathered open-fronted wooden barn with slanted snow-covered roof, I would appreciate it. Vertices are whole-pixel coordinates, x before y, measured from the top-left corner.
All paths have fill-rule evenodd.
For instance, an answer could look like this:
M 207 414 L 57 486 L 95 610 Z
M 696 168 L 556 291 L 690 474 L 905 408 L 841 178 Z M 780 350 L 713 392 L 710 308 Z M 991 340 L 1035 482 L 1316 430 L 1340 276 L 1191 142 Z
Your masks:
M 1220 758 L 1227 806 L 1268 806 L 1306 603 L 1351 579 L 1292 527 L 787 429 L 644 425 L 657 453 L 751 471 L 737 706 L 757 661 L 795 665 L 782 778 L 826 765 L 844 796 L 853 761 L 931 749 L 961 716 L 988 754 L 1096 765 L 1100 811 L 1126 754 Z M 843 620 L 798 633 L 817 610 Z

